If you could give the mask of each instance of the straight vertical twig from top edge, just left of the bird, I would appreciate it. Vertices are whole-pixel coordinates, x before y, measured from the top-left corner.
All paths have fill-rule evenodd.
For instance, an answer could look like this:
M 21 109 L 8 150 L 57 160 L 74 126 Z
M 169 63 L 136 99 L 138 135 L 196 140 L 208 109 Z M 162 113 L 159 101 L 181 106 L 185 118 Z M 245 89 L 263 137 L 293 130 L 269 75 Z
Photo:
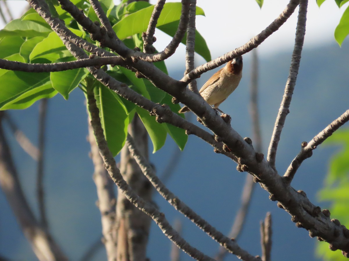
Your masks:
M 185 74 L 194 69 L 194 54 L 195 54 L 195 19 L 196 19 L 196 0 L 190 1 L 189 7 L 189 22 L 187 27 L 187 41 L 185 48 Z M 198 86 L 196 80 L 193 80 L 189 84 L 189 89 L 195 93 L 198 93 Z

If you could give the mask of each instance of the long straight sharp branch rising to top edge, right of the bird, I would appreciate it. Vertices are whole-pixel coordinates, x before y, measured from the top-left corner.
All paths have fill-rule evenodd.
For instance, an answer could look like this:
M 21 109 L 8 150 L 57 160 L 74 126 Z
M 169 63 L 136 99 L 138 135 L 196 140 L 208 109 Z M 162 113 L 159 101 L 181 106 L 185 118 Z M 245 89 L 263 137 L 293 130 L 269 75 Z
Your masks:
M 305 36 L 307 6 L 308 6 L 308 0 L 300 1 L 298 21 L 297 21 L 297 27 L 296 27 L 295 47 L 292 53 L 290 71 L 287 78 L 285 92 L 282 98 L 279 113 L 277 114 L 277 118 L 275 121 L 272 139 L 270 140 L 270 144 L 269 144 L 267 160 L 269 161 L 270 166 L 272 166 L 273 168 L 275 168 L 277 145 L 279 144 L 279 141 L 280 141 L 281 131 L 285 124 L 286 116 L 290 112 L 289 108 L 291 104 L 292 94 L 296 85 L 300 57 L 302 54 L 302 48 L 303 48 L 304 36 Z

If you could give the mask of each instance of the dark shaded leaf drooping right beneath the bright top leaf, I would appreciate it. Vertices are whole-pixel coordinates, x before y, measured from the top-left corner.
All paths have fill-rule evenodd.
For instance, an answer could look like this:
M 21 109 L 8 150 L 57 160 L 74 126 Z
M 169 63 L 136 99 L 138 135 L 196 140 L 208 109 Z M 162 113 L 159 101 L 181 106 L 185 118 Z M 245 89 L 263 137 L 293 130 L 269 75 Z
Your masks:
M 165 25 L 158 26 L 158 28 L 163 31 L 164 33 L 167 33 L 170 36 L 174 36 L 174 34 L 177 31 L 179 21 L 174 21 L 172 23 L 168 23 Z M 182 43 L 185 44 L 187 39 L 187 34 L 185 33 Z M 202 35 L 198 32 L 198 30 L 195 30 L 195 52 L 201 55 L 207 62 L 211 61 L 211 53 L 208 49 L 208 46 L 206 44 L 205 39 L 202 37 Z

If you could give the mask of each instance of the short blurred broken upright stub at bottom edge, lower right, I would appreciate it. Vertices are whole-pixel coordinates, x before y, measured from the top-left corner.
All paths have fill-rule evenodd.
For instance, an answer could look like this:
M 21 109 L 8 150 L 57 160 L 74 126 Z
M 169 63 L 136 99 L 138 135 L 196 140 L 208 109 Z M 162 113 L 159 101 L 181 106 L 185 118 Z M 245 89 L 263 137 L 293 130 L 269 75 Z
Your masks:
M 270 212 L 267 213 L 264 222 L 261 221 L 260 225 L 262 260 L 270 261 L 272 251 L 272 214 Z

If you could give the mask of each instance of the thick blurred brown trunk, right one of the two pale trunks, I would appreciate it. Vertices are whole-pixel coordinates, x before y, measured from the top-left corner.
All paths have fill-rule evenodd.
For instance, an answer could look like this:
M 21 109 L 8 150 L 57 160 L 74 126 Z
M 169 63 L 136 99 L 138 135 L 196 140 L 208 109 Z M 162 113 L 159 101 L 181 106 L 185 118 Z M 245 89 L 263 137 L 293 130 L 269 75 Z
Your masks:
M 148 159 L 148 134 L 137 114 L 128 126 L 138 149 Z M 126 182 L 144 200 L 151 199 L 151 184 L 143 175 L 127 146 L 121 150 L 120 171 Z M 118 261 L 145 261 L 150 217 L 133 206 L 118 190 L 117 199 Z

